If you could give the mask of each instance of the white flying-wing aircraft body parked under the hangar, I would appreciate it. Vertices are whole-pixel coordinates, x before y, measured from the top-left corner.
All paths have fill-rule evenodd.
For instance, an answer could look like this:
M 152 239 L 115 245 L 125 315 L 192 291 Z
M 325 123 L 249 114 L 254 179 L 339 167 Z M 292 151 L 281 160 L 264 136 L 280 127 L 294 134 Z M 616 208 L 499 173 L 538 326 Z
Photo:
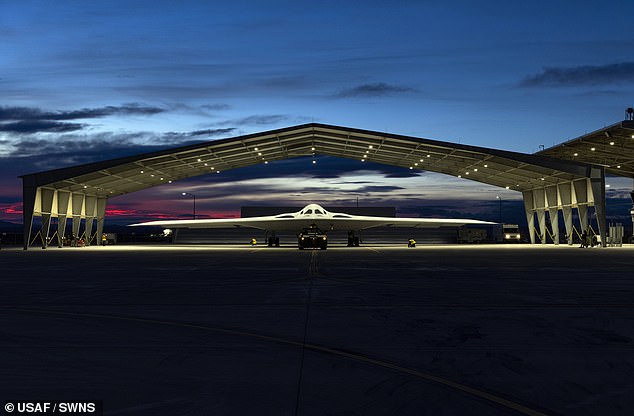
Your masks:
M 315 226 L 325 232 L 332 230 L 354 232 L 374 227 L 439 228 L 467 224 L 491 225 L 495 223 L 456 218 L 392 218 L 350 215 L 342 212 L 326 211 L 318 204 L 308 204 L 297 212 L 264 217 L 150 221 L 133 224 L 133 226 L 161 226 L 176 229 L 246 227 L 275 233 L 277 231 L 299 232 L 303 228 Z

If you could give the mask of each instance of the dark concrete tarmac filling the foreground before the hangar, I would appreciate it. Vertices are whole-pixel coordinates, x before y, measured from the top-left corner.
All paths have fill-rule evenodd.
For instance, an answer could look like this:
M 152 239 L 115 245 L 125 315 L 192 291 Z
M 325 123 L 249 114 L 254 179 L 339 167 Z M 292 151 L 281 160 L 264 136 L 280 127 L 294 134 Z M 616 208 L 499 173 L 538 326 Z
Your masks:
M 0 263 L 3 403 L 634 413 L 634 247 L 3 247 Z

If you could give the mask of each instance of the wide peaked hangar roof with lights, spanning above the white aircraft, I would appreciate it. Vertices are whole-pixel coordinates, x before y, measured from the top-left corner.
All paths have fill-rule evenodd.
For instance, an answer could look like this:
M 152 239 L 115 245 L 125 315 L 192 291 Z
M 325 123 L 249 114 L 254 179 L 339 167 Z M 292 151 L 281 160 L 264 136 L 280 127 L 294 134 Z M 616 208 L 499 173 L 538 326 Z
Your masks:
M 614 127 L 614 132 L 619 137 L 624 134 L 622 128 Z M 313 154 L 440 172 L 517 191 L 589 175 L 589 166 L 575 160 L 310 123 L 21 177 L 25 186 L 113 197 L 179 179 Z

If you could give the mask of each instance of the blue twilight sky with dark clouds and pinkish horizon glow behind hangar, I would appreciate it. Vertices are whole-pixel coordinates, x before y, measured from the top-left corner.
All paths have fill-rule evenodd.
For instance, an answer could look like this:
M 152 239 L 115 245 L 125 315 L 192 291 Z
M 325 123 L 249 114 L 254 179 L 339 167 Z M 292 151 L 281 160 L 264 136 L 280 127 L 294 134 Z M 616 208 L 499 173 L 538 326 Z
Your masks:
M 634 105 L 631 16 L 631 0 L 3 0 L 0 220 L 21 221 L 21 174 L 308 122 L 533 153 Z M 404 216 L 491 218 L 496 196 L 521 210 L 465 179 L 317 161 L 116 197 L 108 218 L 190 215 L 182 192 L 209 217 L 357 198 Z M 608 183 L 626 212 L 632 181 Z

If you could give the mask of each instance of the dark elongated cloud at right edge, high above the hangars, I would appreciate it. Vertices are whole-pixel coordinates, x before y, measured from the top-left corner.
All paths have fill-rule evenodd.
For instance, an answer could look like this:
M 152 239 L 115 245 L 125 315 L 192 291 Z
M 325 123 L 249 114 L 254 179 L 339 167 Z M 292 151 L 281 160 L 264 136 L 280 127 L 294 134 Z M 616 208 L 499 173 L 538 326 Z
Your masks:
M 617 84 L 634 81 L 634 62 L 576 67 L 546 67 L 541 73 L 527 76 L 522 87 L 577 86 Z

